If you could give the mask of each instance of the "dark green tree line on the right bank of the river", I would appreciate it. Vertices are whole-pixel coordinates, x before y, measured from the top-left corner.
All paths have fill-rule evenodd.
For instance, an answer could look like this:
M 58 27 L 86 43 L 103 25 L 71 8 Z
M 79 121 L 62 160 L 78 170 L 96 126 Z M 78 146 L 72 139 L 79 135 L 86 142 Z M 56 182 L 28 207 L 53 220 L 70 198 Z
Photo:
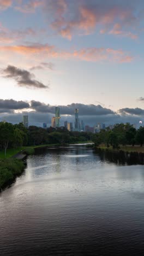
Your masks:
M 104 144 L 107 148 L 112 146 L 113 149 L 118 149 L 120 145 L 135 146 L 144 144 L 144 127 L 140 127 L 138 130 L 133 125 L 116 124 L 112 130 L 109 127 L 106 130 L 100 130 L 99 133 L 95 133 L 92 137 L 92 141 L 95 147 Z

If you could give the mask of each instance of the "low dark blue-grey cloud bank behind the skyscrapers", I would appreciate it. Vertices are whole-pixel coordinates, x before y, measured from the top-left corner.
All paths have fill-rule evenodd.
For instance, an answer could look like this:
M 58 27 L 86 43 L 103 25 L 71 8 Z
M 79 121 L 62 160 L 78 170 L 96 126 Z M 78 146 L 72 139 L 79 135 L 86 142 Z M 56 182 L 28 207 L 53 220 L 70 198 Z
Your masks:
M 15 101 L 0 100 L 1 121 L 5 119 L 11 123 L 19 123 L 22 121 L 22 115 L 28 114 L 29 125 L 43 126 L 43 123 L 51 125 L 51 117 L 55 115 L 55 107 L 39 101 Z M 75 108 L 79 108 L 79 118 L 86 125 L 93 126 L 97 123 L 105 123 L 107 126 L 115 123 L 131 123 L 139 127 L 139 121 L 143 119 L 144 109 L 140 108 L 123 108 L 117 112 L 100 105 L 71 103 L 67 106 L 59 106 L 61 109 L 61 125 L 64 121 L 74 123 Z

